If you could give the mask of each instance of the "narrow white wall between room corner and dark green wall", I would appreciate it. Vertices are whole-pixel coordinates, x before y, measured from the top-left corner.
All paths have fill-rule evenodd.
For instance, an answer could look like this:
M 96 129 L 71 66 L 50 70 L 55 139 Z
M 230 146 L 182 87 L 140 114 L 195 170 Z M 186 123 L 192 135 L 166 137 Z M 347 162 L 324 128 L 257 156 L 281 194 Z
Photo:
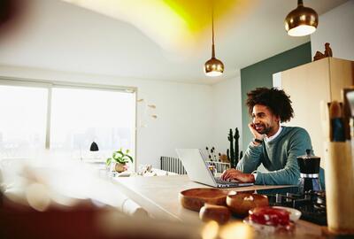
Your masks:
M 235 127 L 242 135 L 242 112 L 241 112 L 241 77 L 237 76 L 227 81 L 221 81 L 212 86 L 213 104 L 213 145 L 217 152 L 227 153 L 230 144 L 227 140 L 229 129 L 235 134 Z M 242 149 L 242 139 L 239 141 Z

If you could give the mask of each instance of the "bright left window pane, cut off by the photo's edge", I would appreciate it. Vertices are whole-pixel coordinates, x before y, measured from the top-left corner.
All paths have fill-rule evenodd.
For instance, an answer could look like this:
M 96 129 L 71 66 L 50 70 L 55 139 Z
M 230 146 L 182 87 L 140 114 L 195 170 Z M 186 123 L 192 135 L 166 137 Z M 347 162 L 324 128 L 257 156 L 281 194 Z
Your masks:
M 45 147 L 48 90 L 0 85 L 2 158 L 35 158 Z

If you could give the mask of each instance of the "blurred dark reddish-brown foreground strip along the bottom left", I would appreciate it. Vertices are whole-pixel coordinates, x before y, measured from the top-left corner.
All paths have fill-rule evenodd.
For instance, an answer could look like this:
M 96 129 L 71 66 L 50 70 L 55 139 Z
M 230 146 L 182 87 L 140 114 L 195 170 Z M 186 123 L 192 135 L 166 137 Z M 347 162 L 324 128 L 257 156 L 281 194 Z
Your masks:
M 200 238 L 196 227 L 179 222 L 132 218 L 88 201 L 45 212 L 13 204 L 0 206 L 0 238 Z

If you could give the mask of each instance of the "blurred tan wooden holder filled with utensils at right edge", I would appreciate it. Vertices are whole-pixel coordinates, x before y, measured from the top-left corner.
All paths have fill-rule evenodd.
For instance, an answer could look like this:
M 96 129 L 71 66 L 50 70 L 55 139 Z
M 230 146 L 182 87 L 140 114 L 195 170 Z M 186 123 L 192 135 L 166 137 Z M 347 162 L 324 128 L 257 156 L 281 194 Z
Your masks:
M 324 132 L 327 133 L 325 137 L 327 229 L 330 235 L 354 235 L 352 142 L 345 140 L 343 132 L 337 141 L 333 132 L 338 131 L 338 128 L 329 123 L 330 120 L 339 119 L 343 124 L 342 105 L 336 101 L 331 102 L 329 111 L 323 111 L 323 115 L 324 122 L 327 122 L 323 124 Z

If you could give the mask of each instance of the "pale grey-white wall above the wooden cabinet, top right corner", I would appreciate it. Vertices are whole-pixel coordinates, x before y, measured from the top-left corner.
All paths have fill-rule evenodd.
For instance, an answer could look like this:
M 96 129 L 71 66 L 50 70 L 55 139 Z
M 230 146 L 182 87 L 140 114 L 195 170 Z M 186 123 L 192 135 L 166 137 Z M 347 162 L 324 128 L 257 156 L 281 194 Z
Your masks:
M 334 58 L 354 60 L 354 1 L 350 0 L 319 16 L 319 27 L 311 35 L 312 58 L 329 42 Z

